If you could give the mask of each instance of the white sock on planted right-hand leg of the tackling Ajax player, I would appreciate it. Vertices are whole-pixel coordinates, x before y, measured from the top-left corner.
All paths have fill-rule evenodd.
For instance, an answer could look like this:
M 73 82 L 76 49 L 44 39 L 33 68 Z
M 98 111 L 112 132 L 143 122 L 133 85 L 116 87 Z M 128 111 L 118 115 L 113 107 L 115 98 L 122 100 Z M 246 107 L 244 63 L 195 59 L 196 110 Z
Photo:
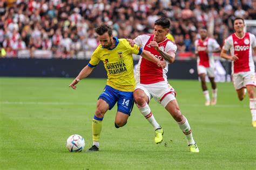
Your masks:
M 187 138 L 187 145 L 195 144 L 192 135 L 192 131 L 190 128 L 190 124 L 188 123 L 187 119 L 185 116 L 183 116 L 183 119 L 180 122 L 177 122 L 180 129 L 183 131 L 183 133 L 186 135 Z

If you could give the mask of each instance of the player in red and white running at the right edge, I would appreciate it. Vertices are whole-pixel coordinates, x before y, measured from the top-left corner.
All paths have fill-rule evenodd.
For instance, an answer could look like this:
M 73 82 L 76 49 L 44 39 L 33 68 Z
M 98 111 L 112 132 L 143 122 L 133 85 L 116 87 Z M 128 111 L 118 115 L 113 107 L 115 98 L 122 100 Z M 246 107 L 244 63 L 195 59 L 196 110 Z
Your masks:
M 245 22 L 242 18 L 234 19 L 234 30 L 231 36 L 227 37 L 220 56 L 232 60 L 232 78 L 238 98 L 241 101 L 245 98 L 245 88 L 250 98 L 250 109 L 252 113 L 252 126 L 256 127 L 256 99 L 255 69 L 252 58 L 253 50 L 256 51 L 255 36 L 244 32 Z M 230 50 L 230 54 L 227 51 Z

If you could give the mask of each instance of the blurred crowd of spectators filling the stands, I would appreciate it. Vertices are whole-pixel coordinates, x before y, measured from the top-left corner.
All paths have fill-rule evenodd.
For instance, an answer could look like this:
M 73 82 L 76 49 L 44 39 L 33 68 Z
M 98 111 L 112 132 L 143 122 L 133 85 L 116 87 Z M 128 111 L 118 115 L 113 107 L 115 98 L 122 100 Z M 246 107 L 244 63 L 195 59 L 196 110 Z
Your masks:
M 112 25 L 114 36 L 135 38 L 151 33 L 161 16 L 171 20 L 178 52 L 193 52 L 200 26 L 221 45 L 233 32 L 235 17 L 256 19 L 256 1 L 7 0 L 0 2 L 0 16 L 2 56 L 26 50 L 33 57 L 36 50 L 48 50 L 54 57 L 75 58 L 96 49 L 94 29 L 102 22 Z

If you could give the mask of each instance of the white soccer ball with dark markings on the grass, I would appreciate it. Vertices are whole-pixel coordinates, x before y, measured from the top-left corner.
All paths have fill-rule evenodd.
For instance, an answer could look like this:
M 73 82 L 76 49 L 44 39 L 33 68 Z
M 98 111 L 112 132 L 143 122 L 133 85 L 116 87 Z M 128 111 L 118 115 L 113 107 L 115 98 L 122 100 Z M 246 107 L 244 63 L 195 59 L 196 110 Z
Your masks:
M 81 152 L 83 151 L 84 146 L 84 138 L 78 134 L 72 134 L 66 140 L 66 148 L 68 148 L 70 152 Z

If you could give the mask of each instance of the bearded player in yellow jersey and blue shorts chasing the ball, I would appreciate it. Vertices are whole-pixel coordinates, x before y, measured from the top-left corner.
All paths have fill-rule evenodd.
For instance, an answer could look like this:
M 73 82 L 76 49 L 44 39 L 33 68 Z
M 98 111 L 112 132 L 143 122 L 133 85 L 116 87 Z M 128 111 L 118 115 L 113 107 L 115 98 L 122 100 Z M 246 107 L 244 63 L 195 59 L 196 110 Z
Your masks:
M 126 39 L 113 37 L 109 25 L 102 24 L 95 29 L 95 32 L 98 35 L 100 45 L 93 52 L 89 64 L 80 71 L 69 85 L 72 89 L 76 89 L 75 85 L 80 79 L 89 76 L 94 67 L 102 60 L 107 71 L 107 83 L 97 101 L 97 108 L 92 119 L 93 144 L 87 151 L 99 151 L 99 137 L 104 114 L 107 110 L 111 110 L 116 103 L 117 113 L 114 125 L 119 128 L 127 123 L 133 107 L 133 90 L 135 87 L 132 54 L 141 55 L 159 67 L 165 67 L 165 63 L 150 52 L 137 45 L 131 47 Z

